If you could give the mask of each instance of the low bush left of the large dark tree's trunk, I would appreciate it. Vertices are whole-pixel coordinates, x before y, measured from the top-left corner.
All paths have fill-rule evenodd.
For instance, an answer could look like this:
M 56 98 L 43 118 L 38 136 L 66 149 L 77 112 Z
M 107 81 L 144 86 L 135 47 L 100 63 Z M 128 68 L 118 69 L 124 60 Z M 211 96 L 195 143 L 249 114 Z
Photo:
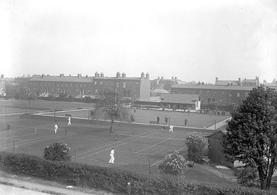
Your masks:
M 260 184 L 256 167 L 242 167 L 235 169 L 234 175 L 240 185 L 253 187 L 259 186 Z

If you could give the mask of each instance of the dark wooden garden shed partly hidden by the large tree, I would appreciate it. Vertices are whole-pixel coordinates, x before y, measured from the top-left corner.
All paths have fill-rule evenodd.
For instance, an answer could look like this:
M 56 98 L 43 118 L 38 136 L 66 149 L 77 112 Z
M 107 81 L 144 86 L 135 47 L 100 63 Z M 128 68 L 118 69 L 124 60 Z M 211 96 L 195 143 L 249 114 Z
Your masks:
M 235 160 L 234 162 L 229 162 L 225 158 L 225 154 L 222 152 L 223 147 L 221 145 L 223 136 L 226 134 L 226 129 L 220 131 L 215 131 L 211 135 L 206 136 L 208 138 L 208 158 L 215 163 L 220 163 L 226 167 L 241 167 L 244 166 L 242 162 Z

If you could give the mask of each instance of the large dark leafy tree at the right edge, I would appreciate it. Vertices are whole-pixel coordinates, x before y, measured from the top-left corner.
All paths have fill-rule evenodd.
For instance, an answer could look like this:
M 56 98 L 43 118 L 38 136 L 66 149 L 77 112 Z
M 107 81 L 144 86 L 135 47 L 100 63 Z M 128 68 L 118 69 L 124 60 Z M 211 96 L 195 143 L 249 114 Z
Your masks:
M 269 189 L 277 165 L 276 113 L 275 89 L 254 88 L 232 113 L 222 141 L 226 158 L 258 169 L 261 189 Z

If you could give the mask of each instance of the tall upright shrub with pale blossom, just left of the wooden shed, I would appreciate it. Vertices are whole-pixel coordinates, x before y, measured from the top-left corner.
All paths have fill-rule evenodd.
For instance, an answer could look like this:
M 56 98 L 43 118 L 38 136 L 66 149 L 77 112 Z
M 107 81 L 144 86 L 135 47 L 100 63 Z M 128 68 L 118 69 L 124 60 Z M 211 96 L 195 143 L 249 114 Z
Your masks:
M 193 132 L 186 138 L 188 146 L 188 159 L 199 162 L 202 159 L 202 151 L 205 147 L 201 133 Z

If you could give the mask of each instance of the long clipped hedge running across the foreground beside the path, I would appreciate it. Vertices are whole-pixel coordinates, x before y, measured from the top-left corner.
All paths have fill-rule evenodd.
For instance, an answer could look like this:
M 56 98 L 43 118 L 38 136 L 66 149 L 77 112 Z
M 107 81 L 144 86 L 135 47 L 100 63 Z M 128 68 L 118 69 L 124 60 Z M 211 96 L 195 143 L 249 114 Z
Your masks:
M 26 154 L 0 152 L 0 165 L 12 174 L 55 180 L 65 185 L 103 189 L 112 193 L 127 194 L 127 182 L 132 194 L 236 194 L 264 195 L 273 192 L 239 185 L 218 186 L 213 183 L 184 182 L 175 176 L 146 176 L 115 168 L 81 163 L 50 161 Z

